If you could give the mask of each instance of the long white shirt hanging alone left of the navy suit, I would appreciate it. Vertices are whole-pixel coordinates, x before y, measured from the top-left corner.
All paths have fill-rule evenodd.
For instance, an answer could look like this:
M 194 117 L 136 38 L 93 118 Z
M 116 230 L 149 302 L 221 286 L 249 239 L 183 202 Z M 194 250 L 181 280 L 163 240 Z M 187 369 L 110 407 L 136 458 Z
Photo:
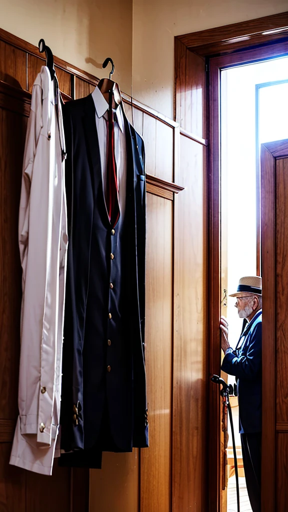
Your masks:
M 60 416 L 68 244 L 62 150 L 59 94 L 43 66 L 32 89 L 19 208 L 19 416 L 10 464 L 44 475 L 52 473 Z

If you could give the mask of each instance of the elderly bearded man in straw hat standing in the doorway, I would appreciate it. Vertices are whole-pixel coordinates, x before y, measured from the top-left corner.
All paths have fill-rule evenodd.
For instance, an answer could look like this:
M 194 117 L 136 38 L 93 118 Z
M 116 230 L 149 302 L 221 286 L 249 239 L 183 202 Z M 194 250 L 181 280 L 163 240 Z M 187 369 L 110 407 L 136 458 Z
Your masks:
M 239 403 L 239 428 L 246 486 L 253 512 L 261 510 L 261 423 L 262 423 L 262 281 L 259 276 L 241 278 L 235 307 L 247 324 L 235 350 L 228 342 L 228 323 L 220 320 L 221 347 L 225 356 L 221 369 L 235 375 Z

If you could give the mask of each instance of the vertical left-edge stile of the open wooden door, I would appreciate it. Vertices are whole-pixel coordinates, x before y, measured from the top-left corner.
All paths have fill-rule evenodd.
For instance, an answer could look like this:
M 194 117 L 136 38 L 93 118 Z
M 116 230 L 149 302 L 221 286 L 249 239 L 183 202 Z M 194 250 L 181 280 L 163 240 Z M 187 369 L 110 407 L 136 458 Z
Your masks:
M 262 511 L 275 506 L 276 489 L 276 281 L 275 281 L 275 158 L 261 149 L 262 320 Z M 268 378 L 269 376 L 269 378 Z

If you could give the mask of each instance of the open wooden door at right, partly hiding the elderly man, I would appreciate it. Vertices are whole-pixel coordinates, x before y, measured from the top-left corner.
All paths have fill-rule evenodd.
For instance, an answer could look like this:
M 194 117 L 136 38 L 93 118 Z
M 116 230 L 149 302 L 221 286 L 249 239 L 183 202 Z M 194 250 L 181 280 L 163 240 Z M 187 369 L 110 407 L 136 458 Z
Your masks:
M 261 146 L 262 512 L 288 502 L 288 139 Z

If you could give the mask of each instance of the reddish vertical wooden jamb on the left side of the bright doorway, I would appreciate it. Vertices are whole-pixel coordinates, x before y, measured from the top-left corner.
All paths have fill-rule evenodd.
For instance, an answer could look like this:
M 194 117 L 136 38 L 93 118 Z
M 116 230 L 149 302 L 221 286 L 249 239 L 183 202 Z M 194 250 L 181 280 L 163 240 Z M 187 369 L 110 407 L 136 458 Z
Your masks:
M 208 154 L 208 304 L 209 312 L 209 376 L 219 374 L 221 367 L 219 318 L 221 313 L 221 269 L 220 269 L 220 169 L 219 169 L 219 73 L 210 69 L 210 140 Z M 213 424 L 209 437 L 209 489 L 211 500 L 209 512 L 221 509 L 220 474 L 220 393 L 218 386 L 209 378 L 209 421 Z

